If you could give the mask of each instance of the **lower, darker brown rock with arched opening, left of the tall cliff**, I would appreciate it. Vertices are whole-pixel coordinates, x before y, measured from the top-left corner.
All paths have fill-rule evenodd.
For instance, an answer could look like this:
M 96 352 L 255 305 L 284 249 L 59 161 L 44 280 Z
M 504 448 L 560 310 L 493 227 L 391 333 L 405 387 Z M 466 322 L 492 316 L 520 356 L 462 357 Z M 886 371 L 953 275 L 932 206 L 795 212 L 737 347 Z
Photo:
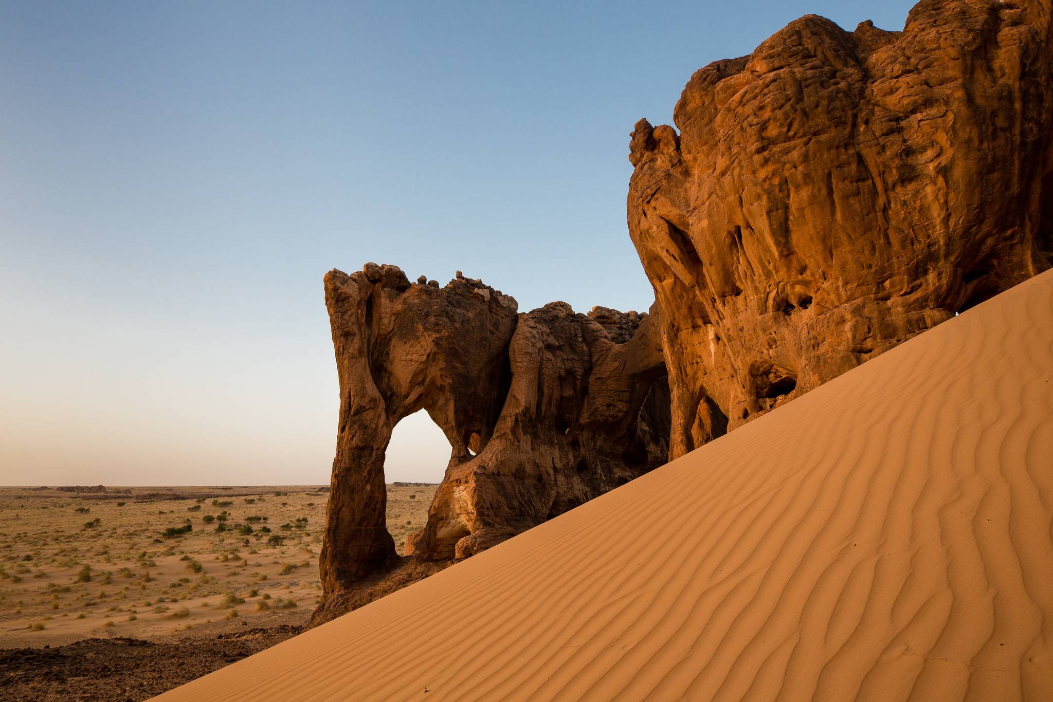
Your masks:
M 321 554 L 326 596 L 396 563 L 384 452 L 425 409 L 451 446 L 423 561 L 464 558 L 665 461 L 669 392 L 655 316 L 516 301 L 458 274 L 391 265 L 325 276 L 340 420 Z

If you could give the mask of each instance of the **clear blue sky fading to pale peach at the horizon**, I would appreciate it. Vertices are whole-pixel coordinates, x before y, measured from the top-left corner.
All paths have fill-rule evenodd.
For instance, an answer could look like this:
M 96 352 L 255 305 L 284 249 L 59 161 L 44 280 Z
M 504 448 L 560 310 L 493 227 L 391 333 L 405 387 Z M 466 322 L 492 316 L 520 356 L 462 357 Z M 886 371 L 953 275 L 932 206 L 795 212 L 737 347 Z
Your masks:
M 327 483 L 326 270 L 645 309 L 633 123 L 911 4 L 0 3 L 0 484 Z M 441 477 L 419 420 L 389 480 Z

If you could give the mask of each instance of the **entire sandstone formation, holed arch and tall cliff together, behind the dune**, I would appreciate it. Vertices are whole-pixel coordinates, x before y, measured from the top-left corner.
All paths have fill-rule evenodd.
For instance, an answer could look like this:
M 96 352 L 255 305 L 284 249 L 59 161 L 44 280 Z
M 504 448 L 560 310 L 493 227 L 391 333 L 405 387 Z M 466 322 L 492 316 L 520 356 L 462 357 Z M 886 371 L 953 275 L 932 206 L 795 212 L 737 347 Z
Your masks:
M 394 266 L 329 274 L 326 601 L 357 606 L 471 556 L 1048 268 L 1051 14 L 922 0 L 901 33 L 807 16 L 696 72 L 679 132 L 632 134 L 648 317 L 519 314 L 459 274 L 442 288 Z M 453 450 L 412 563 L 382 575 L 383 454 L 420 408 Z

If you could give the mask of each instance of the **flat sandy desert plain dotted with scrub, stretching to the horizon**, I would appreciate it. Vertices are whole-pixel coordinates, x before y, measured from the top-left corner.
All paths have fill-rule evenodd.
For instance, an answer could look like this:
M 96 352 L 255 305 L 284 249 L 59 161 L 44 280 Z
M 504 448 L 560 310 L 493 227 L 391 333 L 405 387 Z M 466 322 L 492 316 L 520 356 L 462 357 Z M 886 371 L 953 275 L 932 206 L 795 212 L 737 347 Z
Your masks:
M 168 646 L 170 658 L 195 659 L 180 667 L 200 675 L 240 657 L 229 645 L 211 651 L 208 642 L 252 633 L 241 647 L 247 655 L 298 633 L 321 591 L 327 489 L 0 487 L 0 649 L 7 649 L 0 650 L 0 698 L 18 699 L 15 685 L 35 684 L 34 662 L 57 665 L 41 659 L 43 651 L 11 649 L 47 646 L 51 655 L 56 646 L 91 640 L 58 649 L 83 659 L 81 653 L 99 653 L 100 640 L 146 641 Z M 405 536 L 423 526 L 435 489 L 389 485 L 388 526 L 400 551 Z M 135 662 L 130 651 L 127 664 Z M 162 686 L 147 693 L 190 675 L 166 686 L 158 680 Z M 128 697 L 93 693 L 85 678 L 87 687 L 78 687 L 83 699 Z M 53 699 L 72 694 L 53 687 Z M 23 699 L 41 699 L 51 688 L 37 685 L 32 695 L 17 689 Z M 148 696 L 135 693 L 133 699 Z

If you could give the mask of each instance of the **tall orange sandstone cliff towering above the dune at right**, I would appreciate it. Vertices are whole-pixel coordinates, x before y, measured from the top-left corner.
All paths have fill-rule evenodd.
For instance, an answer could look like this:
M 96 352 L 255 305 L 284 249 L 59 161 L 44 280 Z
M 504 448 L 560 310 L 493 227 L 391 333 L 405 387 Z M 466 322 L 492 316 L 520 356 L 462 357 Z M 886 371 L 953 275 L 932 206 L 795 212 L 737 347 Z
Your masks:
M 640 120 L 629 226 L 671 458 L 1049 266 L 1049 0 L 792 22 Z M 860 398 L 865 402 L 865 398 Z

